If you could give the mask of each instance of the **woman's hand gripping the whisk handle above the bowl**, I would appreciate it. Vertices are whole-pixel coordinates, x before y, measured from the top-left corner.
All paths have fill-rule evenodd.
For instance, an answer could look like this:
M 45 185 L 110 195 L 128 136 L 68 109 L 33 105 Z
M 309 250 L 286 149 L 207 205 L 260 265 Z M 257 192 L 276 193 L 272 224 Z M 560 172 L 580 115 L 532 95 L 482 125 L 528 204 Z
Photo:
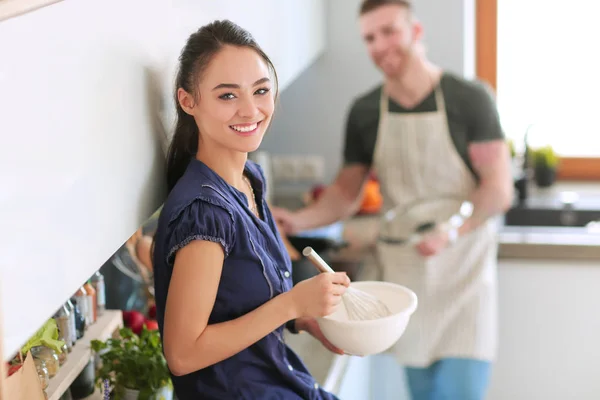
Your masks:
M 349 285 L 350 278 L 344 272 L 321 273 L 299 282 L 288 292 L 296 318 L 331 314 L 342 301 L 342 294 Z

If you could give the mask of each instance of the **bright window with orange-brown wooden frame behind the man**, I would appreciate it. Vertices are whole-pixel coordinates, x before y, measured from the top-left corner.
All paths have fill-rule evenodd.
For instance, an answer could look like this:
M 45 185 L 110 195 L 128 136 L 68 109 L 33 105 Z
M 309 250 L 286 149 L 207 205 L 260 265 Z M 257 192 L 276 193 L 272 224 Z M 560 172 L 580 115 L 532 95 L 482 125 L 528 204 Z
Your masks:
M 517 148 L 550 144 L 559 176 L 600 179 L 600 58 L 595 2 L 477 1 L 477 72 L 497 92 Z

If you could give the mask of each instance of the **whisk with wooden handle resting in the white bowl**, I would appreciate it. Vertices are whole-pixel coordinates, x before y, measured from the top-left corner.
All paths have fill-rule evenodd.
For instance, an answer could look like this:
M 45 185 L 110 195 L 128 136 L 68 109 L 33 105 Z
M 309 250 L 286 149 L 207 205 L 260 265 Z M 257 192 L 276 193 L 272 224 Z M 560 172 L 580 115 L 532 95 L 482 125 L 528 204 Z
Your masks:
M 312 247 L 305 247 L 302 255 L 308 258 L 319 271 L 335 272 Z M 349 287 L 342 295 L 342 302 L 350 320 L 364 321 L 392 315 L 392 312 L 377 297 L 353 287 Z

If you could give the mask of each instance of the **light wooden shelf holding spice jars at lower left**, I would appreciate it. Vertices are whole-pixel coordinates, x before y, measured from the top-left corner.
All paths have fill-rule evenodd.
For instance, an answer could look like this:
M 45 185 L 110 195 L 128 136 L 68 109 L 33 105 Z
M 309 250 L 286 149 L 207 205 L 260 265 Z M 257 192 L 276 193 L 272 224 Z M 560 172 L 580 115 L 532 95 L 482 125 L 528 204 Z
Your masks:
M 106 310 L 98 317 L 96 323 L 88 328 L 73 347 L 73 351 L 67 355 L 67 362 L 60 367 L 56 376 L 50 379 L 50 385 L 46 388 L 48 400 L 59 400 L 83 371 L 92 356 L 90 342 L 94 339 L 106 340 L 122 326 L 123 316 L 120 310 Z

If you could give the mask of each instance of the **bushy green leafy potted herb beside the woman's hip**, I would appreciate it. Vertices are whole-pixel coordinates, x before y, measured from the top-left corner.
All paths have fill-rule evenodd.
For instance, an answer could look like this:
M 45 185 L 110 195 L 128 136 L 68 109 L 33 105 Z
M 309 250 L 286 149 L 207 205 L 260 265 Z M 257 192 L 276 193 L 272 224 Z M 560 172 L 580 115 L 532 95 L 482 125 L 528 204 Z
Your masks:
M 96 382 L 105 391 L 110 388 L 111 399 L 173 398 L 173 384 L 157 330 L 144 326 L 138 336 L 131 329 L 122 328 L 118 338 L 93 340 L 91 346 L 101 361 Z

